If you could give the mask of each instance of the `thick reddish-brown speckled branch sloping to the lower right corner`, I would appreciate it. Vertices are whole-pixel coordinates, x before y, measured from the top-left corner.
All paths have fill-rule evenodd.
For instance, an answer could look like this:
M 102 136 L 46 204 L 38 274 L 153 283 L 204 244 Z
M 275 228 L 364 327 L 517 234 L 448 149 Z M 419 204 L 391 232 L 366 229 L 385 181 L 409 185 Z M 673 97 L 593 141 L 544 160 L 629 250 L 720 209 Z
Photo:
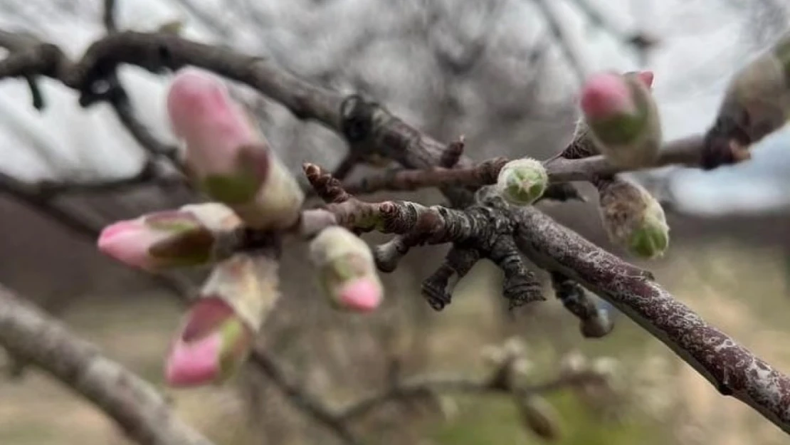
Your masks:
M 519 247 L 608 300 L 668 345 L 723 395 L 790 432 L 790 378 L 706 323 L 640 270 L 532 208 L 514 212 Z

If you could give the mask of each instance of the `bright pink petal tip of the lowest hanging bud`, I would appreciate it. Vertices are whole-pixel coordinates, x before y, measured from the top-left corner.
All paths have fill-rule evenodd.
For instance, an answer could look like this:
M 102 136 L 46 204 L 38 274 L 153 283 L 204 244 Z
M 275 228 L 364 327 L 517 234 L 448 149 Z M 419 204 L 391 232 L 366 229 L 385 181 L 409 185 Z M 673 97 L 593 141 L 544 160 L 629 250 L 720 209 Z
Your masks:
M 194 387 L 212 383 L 220 375 L 220 333 L 186 342 L 175 341 L 167 357 L 164 378 L 171 387 Z

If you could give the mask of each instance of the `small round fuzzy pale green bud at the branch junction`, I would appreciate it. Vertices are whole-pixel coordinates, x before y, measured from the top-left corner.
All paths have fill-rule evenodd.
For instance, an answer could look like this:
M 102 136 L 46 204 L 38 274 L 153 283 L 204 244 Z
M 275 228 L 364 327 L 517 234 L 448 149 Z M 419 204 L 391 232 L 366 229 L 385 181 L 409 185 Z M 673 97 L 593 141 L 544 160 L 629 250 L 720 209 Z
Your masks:
M 497 177 L 499 194 L 515 206 L 529 206 L 544 194 L 546 187 L 548 174 L 540 160 L 511 160 Z

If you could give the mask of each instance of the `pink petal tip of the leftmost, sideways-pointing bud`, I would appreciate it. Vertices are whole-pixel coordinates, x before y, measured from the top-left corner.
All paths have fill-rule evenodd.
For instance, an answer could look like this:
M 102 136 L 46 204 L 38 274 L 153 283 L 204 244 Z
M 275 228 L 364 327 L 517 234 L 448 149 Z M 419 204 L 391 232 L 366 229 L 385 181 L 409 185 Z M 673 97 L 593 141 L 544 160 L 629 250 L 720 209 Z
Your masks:
M 120 221 L 104 228 L 97 246 L 104 255 L 119 262 L 144 270 L 155 267 L 148 249 L 158 237 L 137 221 Z

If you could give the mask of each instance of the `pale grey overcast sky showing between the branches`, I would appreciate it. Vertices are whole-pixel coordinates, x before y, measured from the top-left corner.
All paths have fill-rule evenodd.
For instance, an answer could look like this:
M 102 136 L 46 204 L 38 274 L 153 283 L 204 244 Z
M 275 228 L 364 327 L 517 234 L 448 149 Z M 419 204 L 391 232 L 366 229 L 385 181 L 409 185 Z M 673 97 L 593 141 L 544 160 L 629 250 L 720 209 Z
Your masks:
M 583 55 L 586 69 L 638 67 L 637 59 L 623 51 L 623 46 L 610 34 L 589 25 L 578 12 L 577 1 L 585 2 L 550 0 L 550 4 L 562 13 L 563 25 L 570 30 L 575 50 Z M 39 33 L 75 56 L 103 32 L 97 15 L 99 0 L 3 0 L 2 3 L 0 25 L 4 28 Z M 332 55 L 333 47 L 364 38 L 361 32 L 365 28 L 386 29 L 392 20 L 382 13 L 384 0 L 333 0 L 325 2 L 329 6 L 322 9 L 308 6 L 318 2 L 307 0 L 257 0 L 267 17 L 275 18 L 257 28 L 245 28 L 234 26 L 234 19 L 224 14 L 220 0 L 192 0 L 192 3 L 215 6 L 209 20 L 230 25 L 230 35 L 218 36 L 201 26 L 203 22 L 191 15 L 179 0 L 119 0 L 119 21 L 126 28 L 150 30 L 166 21 L 186 19 L 186 36 L 190 38 L 224 39 L 254 52 L 298 50 L 303 57 L 295 61 L 295 70 L 299 67 L 313 70 L 316 64 L 322 63 L 322 57 Z M 526 34 L 536 23 L 532 2 L 512 0 L 511 3 L 513 7 L 502 18 L 502 27 L 510 27 L 512 36 L 518 36 L 521 28 Z M 586 0 L 586 3 L 603 11 L 623 31 L 645 28 L 662 39 L 647 67 L 656 73 L 655 94 L 668 138 L 705 130 L 728 76 L 773 37 L 772 32 L 767 32 L 768 36 L 749 32 L 750 27 L 760 26 L 755 23 L 758 18 L 721 6 L 724 2 L 720 0 Z M 66 8 L 73 10 L 58 16 L 40 13 L 41 8 L 51 9 L 53 5 L 67 5 Z M 315 30 L 310 43 L 300 40 L 305 38 L 305 28 Z M 123 75 L 138 114 L 162 138 L 171 138 L 164 119 L 164 79 L 132 69 L 124 70 Z M 3 140 L 0 168 L 3 171 L 34 180 L 53 176 L 128 175 L 136 170 L 142 159 L 141 151 L 106 106 L 82 110 L 70 90 L 51 81 L 43 84 L 48 107 L 39 113 L 31 107 L 28 89 L 22 81 L 0 83 Z M 788 185 L 785 178 L 790 176 L 790 157 L 784 155 L 788 152 L 790 136 L 784 133 L 758 147 L 751 163 L 720 172 L 677 175 L 674 187 L 683 188 L 679 204 L 703 213 L 788 206 L 787 194 L 779 193 Z

